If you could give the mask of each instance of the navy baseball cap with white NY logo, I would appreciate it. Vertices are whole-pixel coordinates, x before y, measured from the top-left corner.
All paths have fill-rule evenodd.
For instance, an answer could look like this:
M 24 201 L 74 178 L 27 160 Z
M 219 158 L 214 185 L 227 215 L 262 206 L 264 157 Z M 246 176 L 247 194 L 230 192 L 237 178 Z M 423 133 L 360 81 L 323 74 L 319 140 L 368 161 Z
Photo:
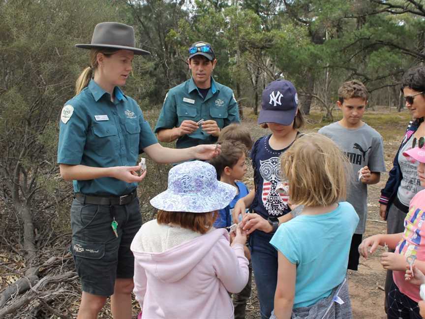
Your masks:
M 267 122 L 290 125 L 298 108 L 298 95 L 294 85 L 278 79 L 264 89 L 258 124 Z

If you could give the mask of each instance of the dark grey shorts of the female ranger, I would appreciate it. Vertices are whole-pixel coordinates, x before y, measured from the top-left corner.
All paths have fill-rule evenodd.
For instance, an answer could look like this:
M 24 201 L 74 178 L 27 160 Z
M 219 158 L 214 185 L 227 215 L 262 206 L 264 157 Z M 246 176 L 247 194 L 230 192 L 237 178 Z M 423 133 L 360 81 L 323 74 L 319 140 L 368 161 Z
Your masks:
M 111 223 L 118 223 L 118 237 Z M 139 199 L 126 205 L 94 205 L 74 198 L 71 205 L 71 252 L 83 291 L 114 294 L 116 278 L 133 278 L 131 242 L 142 225 Z

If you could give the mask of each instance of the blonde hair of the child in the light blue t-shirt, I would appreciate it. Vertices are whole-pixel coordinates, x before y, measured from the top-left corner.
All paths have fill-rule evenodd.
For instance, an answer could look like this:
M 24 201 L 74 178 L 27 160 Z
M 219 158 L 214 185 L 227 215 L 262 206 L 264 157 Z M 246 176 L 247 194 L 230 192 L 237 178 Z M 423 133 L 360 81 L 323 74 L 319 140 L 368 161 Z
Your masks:
M 291 203 L 329 206 L 345 199 L 350 164 L 328 137 L 305 134 L 281 155 L 280 163 Z

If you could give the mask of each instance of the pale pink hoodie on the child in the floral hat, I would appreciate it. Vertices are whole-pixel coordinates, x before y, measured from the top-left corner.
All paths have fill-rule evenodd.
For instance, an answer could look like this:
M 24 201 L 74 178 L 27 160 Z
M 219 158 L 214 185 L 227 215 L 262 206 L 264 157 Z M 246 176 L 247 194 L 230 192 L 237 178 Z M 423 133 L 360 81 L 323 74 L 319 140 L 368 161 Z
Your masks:
M 234 318 L 227 291 L 240 292 L 248 281 L 243 245 L 230 247 L 229 235 L 222 228 L 204 235 L 189 234 L 189 240 L 180 238 L 179 243 L 174 236 L 179 229 L 153 220 L 140 228 L 131 244 L 134 294 L 142 319 Z M 143 247 L 156 252 L 143 251 Z

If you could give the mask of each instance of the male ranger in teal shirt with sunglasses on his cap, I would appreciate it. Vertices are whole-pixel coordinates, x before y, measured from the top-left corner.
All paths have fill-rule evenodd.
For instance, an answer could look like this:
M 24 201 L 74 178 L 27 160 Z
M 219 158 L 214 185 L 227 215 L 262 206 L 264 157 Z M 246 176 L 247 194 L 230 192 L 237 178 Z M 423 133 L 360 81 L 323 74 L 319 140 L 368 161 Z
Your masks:
M 187 63 L 192 77 L 167 93 L 154 130 L 161 142 L 177 139 L 177 148 L 215 143 L 221 128 L 239 122 L 233 91 L 211 76 L 217 63 L 211 44 L 193 43 Z

